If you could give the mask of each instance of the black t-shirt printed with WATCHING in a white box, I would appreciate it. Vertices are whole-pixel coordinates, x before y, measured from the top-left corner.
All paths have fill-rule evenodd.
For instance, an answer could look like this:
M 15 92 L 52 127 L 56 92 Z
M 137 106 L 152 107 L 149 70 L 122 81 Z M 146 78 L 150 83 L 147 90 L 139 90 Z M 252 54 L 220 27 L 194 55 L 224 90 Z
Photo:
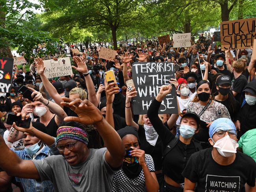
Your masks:
M 245 183 L 255 186 L 255 161 L 237 151 L 232 164 L 222 166 L 213 160 L 212 148 L 191 155 L 182 175 L 197 183 L 195 192 L 241 192 Z

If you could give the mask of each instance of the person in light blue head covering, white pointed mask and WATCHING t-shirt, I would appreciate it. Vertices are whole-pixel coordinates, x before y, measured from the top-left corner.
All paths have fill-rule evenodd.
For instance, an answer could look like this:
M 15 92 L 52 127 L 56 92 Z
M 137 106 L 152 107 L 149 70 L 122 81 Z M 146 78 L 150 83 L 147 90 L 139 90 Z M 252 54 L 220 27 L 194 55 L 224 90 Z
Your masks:
M 244 191 L 255 192 L 256 163 L 237 151 L 237 133 L 234 123 L 219 118 L 209 128 L 209 142 L 213 148 L 191 155 L 182 175 L 184 192 Z M 197 184 L 197 185 L 196 185 Z

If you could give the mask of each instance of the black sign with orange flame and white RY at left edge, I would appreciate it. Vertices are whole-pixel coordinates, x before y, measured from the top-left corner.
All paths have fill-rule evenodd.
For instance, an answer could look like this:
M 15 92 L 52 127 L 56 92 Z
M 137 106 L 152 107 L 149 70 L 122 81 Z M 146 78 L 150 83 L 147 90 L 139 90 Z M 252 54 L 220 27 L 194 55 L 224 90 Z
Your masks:
M 0 92 L 11 92 L 13 74 L 13 58 L 0 57 Z

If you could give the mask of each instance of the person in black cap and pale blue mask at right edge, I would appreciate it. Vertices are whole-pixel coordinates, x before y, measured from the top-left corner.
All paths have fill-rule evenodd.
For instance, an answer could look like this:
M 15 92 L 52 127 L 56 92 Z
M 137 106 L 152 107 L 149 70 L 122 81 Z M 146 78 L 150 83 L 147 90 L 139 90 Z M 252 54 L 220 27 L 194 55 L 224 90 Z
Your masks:
M 241 136 L 248 130 L 255 128 L 256 117 L 256 80 L 250 82 L 243 89 L 243 102 L 237 115 L 236 127 Z

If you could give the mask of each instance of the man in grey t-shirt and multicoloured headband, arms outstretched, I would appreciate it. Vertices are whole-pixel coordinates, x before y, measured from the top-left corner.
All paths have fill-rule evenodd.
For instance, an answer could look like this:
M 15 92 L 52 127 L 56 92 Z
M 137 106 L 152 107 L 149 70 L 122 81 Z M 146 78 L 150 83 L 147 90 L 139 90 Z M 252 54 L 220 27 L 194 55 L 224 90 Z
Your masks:
M 66 117 L 65 121 L 95 125 L 107 148 L 89 149 L 85 130 L 78 126 L 62 126 L 56 139 L 61 155 L 43 160 L 21 160 L 0 137 L 0 154 L 4 154 L 0 157 L 0 167 L 11 176 L 50 180 L 56 192 L 110 192 L 114 171 L 121 167 L 125 155 L 120 136 L 90 101 L 62 99 L 65 101 L 62 105 L 78 115 Z

